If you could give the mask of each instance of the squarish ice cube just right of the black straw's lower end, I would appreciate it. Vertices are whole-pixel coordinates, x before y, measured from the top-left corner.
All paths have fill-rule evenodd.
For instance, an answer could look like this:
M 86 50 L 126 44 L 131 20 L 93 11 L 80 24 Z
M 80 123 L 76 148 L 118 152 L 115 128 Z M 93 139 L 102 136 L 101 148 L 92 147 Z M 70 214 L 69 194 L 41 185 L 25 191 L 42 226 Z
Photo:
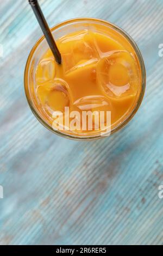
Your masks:
M 99 59 L 93 34 L 86 29 L 68 38 L 62 37 L 59 40 L 59 48 L 66 74 L 85 65 L 96 63 Z

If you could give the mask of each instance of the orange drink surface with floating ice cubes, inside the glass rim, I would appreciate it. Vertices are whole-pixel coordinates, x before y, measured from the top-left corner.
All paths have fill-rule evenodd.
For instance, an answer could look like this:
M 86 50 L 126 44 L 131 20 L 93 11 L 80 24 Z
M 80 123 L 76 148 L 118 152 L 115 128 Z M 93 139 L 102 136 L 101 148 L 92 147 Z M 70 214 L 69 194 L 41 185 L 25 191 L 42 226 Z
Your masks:
M 141 90 L 140 64 L 123 35 L 107 30 L 102 34 L 84 29 L 59 38 L 61 65 L 55 62 L 51 50 L 39 60 L 33 86 L 35 106 L 54 129 L 58 129 L 60 119 L 59 130 L 64 133 L 97 135 L 102 128 L 96 115 L 110 112 L 112 129 L 133 111 Z M 72 129 L 65 121 L 72 111 L 80 113 L 80 117 L 91 111 L 92 129 L 82 123 L 79 115 L 69 119 L 81 124 Z M 106 126 L 106 115 L 103 123 Z

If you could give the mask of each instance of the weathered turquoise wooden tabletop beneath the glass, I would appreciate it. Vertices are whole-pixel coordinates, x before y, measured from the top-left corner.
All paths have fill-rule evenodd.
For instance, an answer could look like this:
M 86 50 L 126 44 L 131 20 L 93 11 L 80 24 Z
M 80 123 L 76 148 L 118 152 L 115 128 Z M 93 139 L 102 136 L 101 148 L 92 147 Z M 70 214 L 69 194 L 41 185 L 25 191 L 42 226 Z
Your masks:
M 41 30 L 28 1 L 1 1 L 0 243 L 161 245 L 163 1 L 40 4 L 50 26 L 90 16 L 125 29 L 145 60 L 146 94 L 133 120 L 109 138 L 77 142 L 49 132 L 30 111 L 23 88 L 24 66 Z

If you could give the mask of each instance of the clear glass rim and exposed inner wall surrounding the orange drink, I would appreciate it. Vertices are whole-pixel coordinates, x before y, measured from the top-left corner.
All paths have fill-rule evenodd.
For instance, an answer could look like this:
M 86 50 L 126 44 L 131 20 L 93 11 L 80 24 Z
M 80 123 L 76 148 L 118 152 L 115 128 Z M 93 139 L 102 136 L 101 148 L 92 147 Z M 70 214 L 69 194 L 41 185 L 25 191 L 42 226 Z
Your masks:
M 130 44 L 130 46 L 134 49 L 135 56 L 138 60 L 138 63 L 140 65 L 140 94 L 139 98 L 137 99 L 137 102 L 135 103 L 133 109 L 131 112 L 123 118 L 123 120 L 118 123 L 116 126 L 112 127 L 111 133 L 114 133 L 120 129 L 124 125 L 126 125 L 131 118 L 133 118 L 134 114 L 136 113 L 137 109 L 139 108 L 141 101 L 143 99 L 143 95 L 145 93 L 145 87 L 146 87 L 146 71 L 145 71 L 145 65 L 143 63 L 143 59 L 141 56 L 141 53 L 139 51 L 139 48 L 135 44 L 134 40 L 125 32 L 123 29 L 117 27 L 116 25 L 113 25 L 112 23 L 108 21 L 103 21 L 99 19 L 93 19 L 93 18 L 79 18 L 79 19 L 72 19 L 65 22 L 60 23 L 59 25 L 54 26 L 51 30 L 54 35 L 55 40 L 59 39 L 61 36 L 64 36 L 68 33 L 76 32 L 83 29 L 90 29 L 93 32 L 96 32 L 96 24 L 98 24 L 98 32 L 106 34 L 107 28 L 113 29 L 114 31 L 117 31 L 120 33 Z M 27 101 L 29 103 L 30 108 L 32 109 L 32 112 L 34 113 L 35 117 L 49 130 L 56 133 L 57 135 L 60 135 L 65 138 L 70 139 L 79 139 L 79 140 L 88 140 L 88 139 L 98 139 L 103 138 L 101 135 L 95 135 L 95 136 L 76 136 L 71 134 L 63 133 L 59 130 L 54 130 L 51 125 L 47 123 L 45 119 L 42 118 L 41 115 L 41 109 L 39 109 L 33 100 L 33 86 L 35 84 L 35 74 L 36 74 L 36 68 L 37 65 L 43 56 L 43 54 L 48 50 L 47 42 L 42 36 L 34 45 L 32 48 L 32 51 L 29 54 L 26 69 L 24 71 L 24 89 L 26 92 Z

